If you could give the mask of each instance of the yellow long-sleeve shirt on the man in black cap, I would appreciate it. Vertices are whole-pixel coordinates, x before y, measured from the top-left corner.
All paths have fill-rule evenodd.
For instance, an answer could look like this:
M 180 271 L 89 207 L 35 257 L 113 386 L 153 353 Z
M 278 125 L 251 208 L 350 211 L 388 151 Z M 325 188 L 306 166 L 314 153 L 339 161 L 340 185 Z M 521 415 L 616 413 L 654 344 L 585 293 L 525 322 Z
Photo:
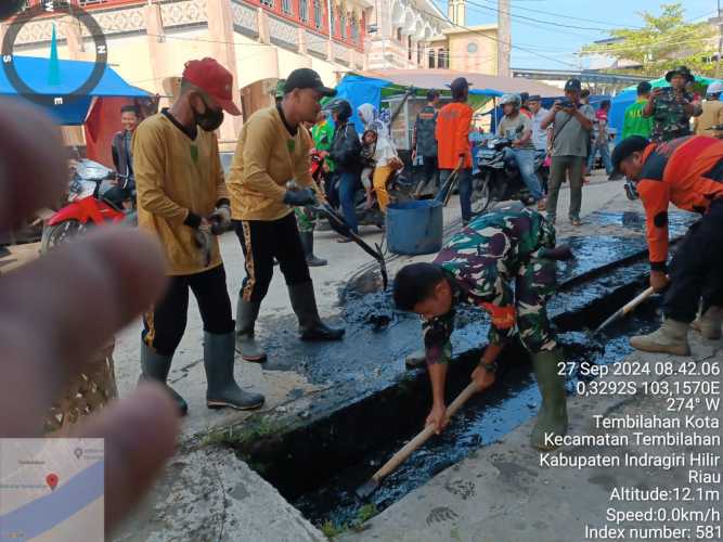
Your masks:
M 299 126 L 292 136 L 276 107 L 256 112 L 246 121 L 229 172 L 231 214 L 235 220 L 279 220 L 292 212 L 284 204 L 286 183 L 317 185 L 309 173 L 311 137 Z

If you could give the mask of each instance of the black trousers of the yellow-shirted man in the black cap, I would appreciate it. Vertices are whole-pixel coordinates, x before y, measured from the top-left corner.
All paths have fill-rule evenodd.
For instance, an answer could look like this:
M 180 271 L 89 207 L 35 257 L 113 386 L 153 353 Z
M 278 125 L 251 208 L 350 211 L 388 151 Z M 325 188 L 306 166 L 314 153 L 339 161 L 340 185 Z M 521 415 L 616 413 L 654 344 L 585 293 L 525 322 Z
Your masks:
M 311 282 L 294 214 L 279 220 L 234 220 L 236 235 L 246 258 L 246 278 L 241 287 L 244 301 L 261 302 L 279 260 L 288 286 Z

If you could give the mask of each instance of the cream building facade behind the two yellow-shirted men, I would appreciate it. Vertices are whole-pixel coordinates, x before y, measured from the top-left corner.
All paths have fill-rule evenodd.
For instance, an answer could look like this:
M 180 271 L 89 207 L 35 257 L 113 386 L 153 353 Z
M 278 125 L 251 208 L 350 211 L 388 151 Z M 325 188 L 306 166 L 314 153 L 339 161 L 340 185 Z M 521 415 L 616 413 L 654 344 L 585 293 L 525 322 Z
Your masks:
M 37 5 L 41 0 L 28 0 Z M 366 67 L 369 0 L 70 0 L 103 29 L 108 64 L 128 82 L 172 98 L 188 60 L 212 56 L 234 75 L 244 115 L 273 103 L 276 83 L 311 67 L 326 85 Z M 8 29 L 0 25 L 0 38 Z M 62 59 L 93 61 L 89 30 L 48 14 L 24 25 L 14 53 L 48 55 L 55 28 Z M 236 140 L 243 118 L 228 118 L 221 142 Z

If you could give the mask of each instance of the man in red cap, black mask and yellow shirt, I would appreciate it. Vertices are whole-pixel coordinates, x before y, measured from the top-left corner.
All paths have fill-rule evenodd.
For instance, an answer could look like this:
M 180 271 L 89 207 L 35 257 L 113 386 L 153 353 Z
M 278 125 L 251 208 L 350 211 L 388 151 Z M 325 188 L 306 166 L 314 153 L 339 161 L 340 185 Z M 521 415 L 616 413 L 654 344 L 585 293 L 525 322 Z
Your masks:
M 185 331 L 189 288 L 204 322 L 204 369 L 209 409 L 256 409 L 263 396 L 242 390 L 233 376 L 234 322 L 214 224 L 230 225 L 229 193 L 214 133 L 232 101 L 233 77 L 212 59 L 186 63 L 180 96 L 144 120 L 133 136 L 138 222 L 166 256 L 168 289 L 143 317 L 142 377 L 166 383 Z M 188 405 L 168 387 L 181 414 Z

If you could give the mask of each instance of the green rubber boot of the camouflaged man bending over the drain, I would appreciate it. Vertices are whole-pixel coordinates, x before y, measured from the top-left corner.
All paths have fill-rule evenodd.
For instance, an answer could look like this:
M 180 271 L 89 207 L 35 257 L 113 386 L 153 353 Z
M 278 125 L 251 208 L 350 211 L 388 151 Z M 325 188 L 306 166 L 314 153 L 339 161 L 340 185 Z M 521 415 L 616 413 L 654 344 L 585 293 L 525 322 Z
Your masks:
M 532 354 L 532 366 L 542 396 L 542 405 L 538 412 L 530 443 L 539 450 L 554 450 L 555 446 L 545 442 L 545 435 L 567 434 L 567 393 L 565 377 L 559 373 L 558 363 L 564 361 L 563 349 L 542 351 Z

